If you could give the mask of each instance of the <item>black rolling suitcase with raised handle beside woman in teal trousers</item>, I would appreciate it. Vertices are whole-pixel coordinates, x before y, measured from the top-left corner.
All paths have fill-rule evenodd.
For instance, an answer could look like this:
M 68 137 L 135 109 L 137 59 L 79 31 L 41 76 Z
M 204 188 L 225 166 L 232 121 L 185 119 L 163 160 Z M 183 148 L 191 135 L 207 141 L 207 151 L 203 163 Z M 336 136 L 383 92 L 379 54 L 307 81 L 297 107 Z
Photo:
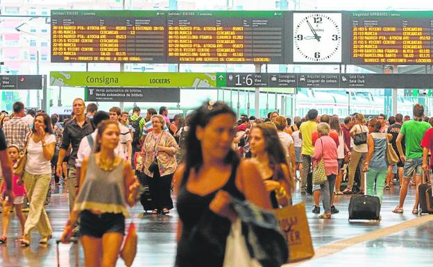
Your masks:
M 364 173 L 365 184 L 367 184 Z M 377 196 L 367 196 L 364 189 L 364 196 L 352 196 L 349 202 L 350 220 L 380 220 L 380 199 Z

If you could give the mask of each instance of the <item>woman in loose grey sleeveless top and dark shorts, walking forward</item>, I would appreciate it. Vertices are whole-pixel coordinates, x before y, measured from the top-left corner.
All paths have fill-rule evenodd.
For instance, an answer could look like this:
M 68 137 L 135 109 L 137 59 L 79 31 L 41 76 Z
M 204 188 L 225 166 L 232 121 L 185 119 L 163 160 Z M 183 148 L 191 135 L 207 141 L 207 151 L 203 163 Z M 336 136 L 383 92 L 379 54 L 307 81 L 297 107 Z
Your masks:
M 99 123 L 94 153 L 81 165 L 80 188 L 65 226 L 67 242 L 80 218 L 85 266 L 116 266 L 125 232 L 128 207 L 135 204 L 139 182 L 130 161 L 115 155 L 120 140 L 117 121 Z

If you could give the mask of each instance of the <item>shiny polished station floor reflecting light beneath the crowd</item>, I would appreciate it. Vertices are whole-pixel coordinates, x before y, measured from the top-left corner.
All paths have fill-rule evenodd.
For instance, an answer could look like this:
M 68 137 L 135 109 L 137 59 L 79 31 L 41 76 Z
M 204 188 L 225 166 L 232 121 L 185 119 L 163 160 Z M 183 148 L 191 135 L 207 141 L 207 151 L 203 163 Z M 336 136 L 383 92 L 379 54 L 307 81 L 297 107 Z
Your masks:
M 312 196 L 302 196 L 295 193 L 294 203 L 305 201 L 309 227 L 316 251 L 325 245 L 350 237 L 362 236 L 375 230 L 387 229 L 399 225 L 419 216 L 411 214 L 414 203 L 415 189 L 409 190 L 404 214 L 393 214 L 391 210 L 398 203 L 399 188 L 391 187 L 384 192 L 382 204 L 382 221 L 349 223 L 348 201 L 350 196 L 337 196 L 334 205 L 340 210 L 330 220 L 320 220 L 311 212 Z M 62 227 L 67 221 L 67 194 L 62 186 L 56 187 L 52 201 L 46 207 L 51 225 L 53 239 L 60 236 Z M 321 207 L 321 209 L 323 209 Z M 322 210 L 323 211 L 323 210 Z M 430 215 L 423 215 L 430 216 Z M 433 216 L 433 215 L 431 215 Z M 138 251 L 133 266 L 173 266 L 176 254 L 176 211 L 169 215 L 142 215 L 139 203 L 133 208 L 134 222 L 138 225 Z M 428 218 L 428 217 L 425 217 Z M 399 226 L 398 226 L 399 227 Z M 0 266 L 57 266 L 56 242 L 49 241 L 41 246 L 37 233 L 32 235 L 32 243 L 28 248 L 22 248 L 15 240 L 20 230 L 16 218 L 13 218 L 8 231 L 8 243 L 0 245 Z M 83 266 L 83 250 L 79 248 L 79 266 Z M 295 264 L 296 266 L 433 266 L 433 222 L 423 223 L 416 227 L 405 227 L 397 232 L 371 239 L 351 246 L 343 246 L 324 257 L 317 257 L 309 261 Z M 74 249 L 71 245 L 60 244 L 60 266 L 75 266 Z M 124 266 L 119 259 L 117 266 Z

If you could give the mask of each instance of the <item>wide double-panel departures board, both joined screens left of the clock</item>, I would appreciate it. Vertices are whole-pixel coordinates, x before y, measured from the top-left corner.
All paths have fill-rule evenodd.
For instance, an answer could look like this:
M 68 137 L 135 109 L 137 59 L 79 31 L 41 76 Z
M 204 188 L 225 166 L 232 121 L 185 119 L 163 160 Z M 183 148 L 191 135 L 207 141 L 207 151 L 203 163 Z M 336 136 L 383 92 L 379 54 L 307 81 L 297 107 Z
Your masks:
M 52 10 L 51 62 L 286 64 L 285 14 Z

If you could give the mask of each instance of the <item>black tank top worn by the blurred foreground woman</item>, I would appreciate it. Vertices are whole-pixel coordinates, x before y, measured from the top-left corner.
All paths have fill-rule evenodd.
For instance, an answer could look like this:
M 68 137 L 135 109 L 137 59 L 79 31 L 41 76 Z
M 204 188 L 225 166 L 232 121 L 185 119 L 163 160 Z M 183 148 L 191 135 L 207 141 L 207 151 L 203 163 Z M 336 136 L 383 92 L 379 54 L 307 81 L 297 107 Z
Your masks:
M 230 193 L 231 196 L 245 200 L 236 185 L 237 166 L 232 166 L 232 173 L 228 182 L 221 188 Z M 182 236 L 178 242 L 176 255 L 176 267 L 221 267 L 223 266 L 224 251 L 215 249 L 214 244 L 218 243 L 221 248 L 226 247 L 226 239 L 230 232 L 231 223 L 227 218 L 214 214 L 209 209 L 209 204 L 218 190 L 199 196 L 186 189 L 189 173 L 185 171 L 182 183 L 178 191 L 177 209 L 179 218 L 182 220 Z M 199 241 L 193 240 L 198 228 L 203 227 L 203 221 L 207 225 L 212 224 L 206 236 Z M 204 228 L 204 227 L 203 227 Z M 203 237 L 203 236 L 202 236 Z M 196 246 L 199 244 L 199 246 Z

